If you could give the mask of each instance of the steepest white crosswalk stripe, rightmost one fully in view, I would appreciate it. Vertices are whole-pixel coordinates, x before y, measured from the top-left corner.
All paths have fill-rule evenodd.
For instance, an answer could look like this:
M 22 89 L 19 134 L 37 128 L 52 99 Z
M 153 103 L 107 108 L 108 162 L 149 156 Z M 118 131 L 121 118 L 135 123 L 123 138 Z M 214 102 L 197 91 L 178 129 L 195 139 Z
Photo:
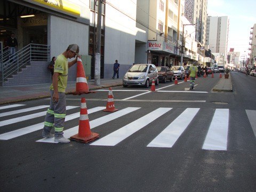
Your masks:
M 227 150 L 229 109 L 216 109 L 203 149 Z

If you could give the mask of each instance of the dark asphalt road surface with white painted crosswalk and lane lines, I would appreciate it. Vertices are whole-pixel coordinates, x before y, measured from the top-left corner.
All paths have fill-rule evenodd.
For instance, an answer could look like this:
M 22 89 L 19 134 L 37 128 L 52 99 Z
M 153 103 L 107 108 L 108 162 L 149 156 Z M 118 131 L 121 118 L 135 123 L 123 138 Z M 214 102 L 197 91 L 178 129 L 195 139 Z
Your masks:
M 1 191 L 255 191 L 256 78 L 179 81 L 67 95 L 65 137 L 78 133 L 81 98 L 92 132 L 82 143 L 42 139 L 49 99 L 0 106 Z

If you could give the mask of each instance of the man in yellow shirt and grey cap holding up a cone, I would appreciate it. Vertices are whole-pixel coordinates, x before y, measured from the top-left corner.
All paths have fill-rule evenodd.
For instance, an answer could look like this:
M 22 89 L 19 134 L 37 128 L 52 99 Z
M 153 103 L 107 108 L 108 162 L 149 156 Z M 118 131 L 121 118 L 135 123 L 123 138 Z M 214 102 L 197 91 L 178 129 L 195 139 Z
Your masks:
M 79 46 L 71 44 L 67 50 L 57 57 L 54 65 L 54 73 L 52 76 L 52 84 L 50 86 L 51 100 L 50 107 L 47 110 L 44 128 L 42 132 L 43 138 L 54 138 L 55 142 L 68 143 L 69 139 L 63 137 L 64 122 L 66 116 L 66 87 L 68 81 L 68 68 L 77 62 Z M 68 59 L 74 58 L 68 62 Z M 54 134 L 51 133 L 54 127 Z

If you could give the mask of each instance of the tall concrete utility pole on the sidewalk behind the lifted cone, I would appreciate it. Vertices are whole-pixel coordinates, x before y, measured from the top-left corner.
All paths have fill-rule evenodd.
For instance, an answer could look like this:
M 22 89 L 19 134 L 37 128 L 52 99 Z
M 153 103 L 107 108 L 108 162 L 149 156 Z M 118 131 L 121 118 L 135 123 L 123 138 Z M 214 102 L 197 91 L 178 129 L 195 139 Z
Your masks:
M 101 51 L 101 13 L 102 1 L 98 0 L 98 18 L 97 18 L 97 34 L 96 34 L 96 51 L 94 65 L 94 85 L 100 85 L 100 51 Z M 97 6 L 97 5 L 96 5 Z

